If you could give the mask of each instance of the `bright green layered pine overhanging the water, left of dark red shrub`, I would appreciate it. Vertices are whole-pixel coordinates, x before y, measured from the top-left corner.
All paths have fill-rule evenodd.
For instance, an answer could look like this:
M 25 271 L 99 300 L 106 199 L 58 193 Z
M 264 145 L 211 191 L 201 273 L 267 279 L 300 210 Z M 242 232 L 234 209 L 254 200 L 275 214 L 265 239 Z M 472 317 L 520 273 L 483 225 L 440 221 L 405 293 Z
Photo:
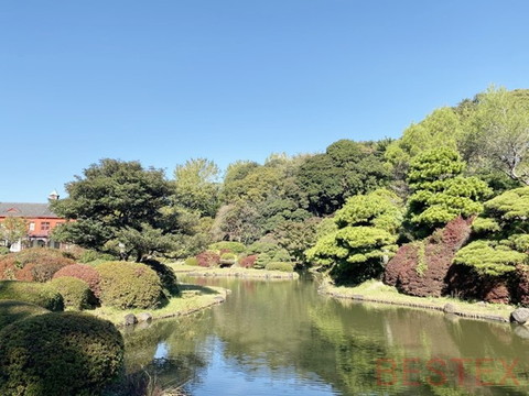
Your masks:
M 310 262 L 330 270 L 338 283 L 361 283 L 378 277 L 397 251 L 402 221 L 400 199 L 387 189 L 347 200 L 334 218 L 338 229 L 306 251 Z

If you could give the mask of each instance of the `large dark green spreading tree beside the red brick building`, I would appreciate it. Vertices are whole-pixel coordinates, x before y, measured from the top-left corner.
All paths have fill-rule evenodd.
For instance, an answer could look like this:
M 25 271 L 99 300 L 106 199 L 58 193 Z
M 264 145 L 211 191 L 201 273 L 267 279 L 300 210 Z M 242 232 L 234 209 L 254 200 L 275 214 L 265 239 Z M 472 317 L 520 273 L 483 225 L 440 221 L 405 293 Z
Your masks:
M 61 241 L 106 251 L 121 243 L 132 243 L 127 234 L 139 235 L 143 231 L 164 223 L 162 208 L 169 205 L 170 186 L 163 170 L 144 169 L 139 162 L 101 160 L 66 184 L 68 197 L 51 204 L 52 210 L 69 221 L 54 230 Z M 173 230 L 163 230 L 164 234 Z M 122 239 L 122 241 L 121 241 Z M 141 253 L 158 250 L 158 242 Z M 141 242 L 143 243 L 143 242 Z M 131 250 L 125 245 L 125 251 Z

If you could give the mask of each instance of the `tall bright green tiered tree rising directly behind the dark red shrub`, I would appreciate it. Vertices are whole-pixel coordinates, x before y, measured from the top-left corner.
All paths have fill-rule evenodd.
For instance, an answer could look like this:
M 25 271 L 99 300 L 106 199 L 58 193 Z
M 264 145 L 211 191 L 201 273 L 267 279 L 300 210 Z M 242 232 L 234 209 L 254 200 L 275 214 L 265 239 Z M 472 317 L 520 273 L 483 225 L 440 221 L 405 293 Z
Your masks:
M 445 147 L 423 152 L 411 162 L 408 219 L 419 234 L 429 234 L 460 215 L 482 212 L 481 202 L 492 190 L 477 177 L 463 176 L 464 168 L 458 153 Z

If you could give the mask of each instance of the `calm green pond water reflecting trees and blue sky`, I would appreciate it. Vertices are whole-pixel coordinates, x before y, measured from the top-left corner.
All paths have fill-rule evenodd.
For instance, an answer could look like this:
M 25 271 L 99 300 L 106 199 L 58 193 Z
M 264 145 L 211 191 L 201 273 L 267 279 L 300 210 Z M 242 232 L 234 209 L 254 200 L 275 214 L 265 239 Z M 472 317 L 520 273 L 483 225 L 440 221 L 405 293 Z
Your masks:
M 129 371 L 215 395 L 528 395 L 529 329 L 334 300 L 310 279 L 201 279 L 226 302 L 126 334 Z

